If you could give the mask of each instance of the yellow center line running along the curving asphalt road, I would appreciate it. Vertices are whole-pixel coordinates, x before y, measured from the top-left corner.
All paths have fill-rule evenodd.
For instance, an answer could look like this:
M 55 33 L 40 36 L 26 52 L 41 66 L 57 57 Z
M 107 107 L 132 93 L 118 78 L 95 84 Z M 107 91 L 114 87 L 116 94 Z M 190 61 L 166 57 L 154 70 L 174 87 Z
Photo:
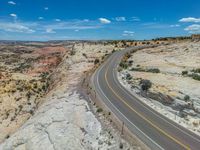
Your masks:
M 135 109 L 133 109 L 123 98 L 121 98 L 114 90 L 113 88 L 110 86 L 108 79 L 107 79 L 107 74 L 108 74 L 108 67 L 105 73 L 105 79 L 106 79 L 106 83 L 109 87 L 109 89 L 111 89 L 111 91 L 115 94 L 115 96 L 117 96 L 119 98 L 120 101 L 122 101 L 128 108 L 130 108 L 133 112 L 135 112 L 138 116 L 140 116 L 143 120 L 145 120 L 146 122 L 148 122 L 151 126 L 153 126 L 155 129 L 157 129 L 158 131 L 160 131 L 162 134 L 164 134 L 165 136 L 167 136 L 168 138 L 170 138 L 171 140 L 175 141 L 177 144 L 181 145 L 182 147 L 184 147 L 186 150 L 190 150 L 189 146 L 184 145 L 183 143 L 181 143 L 179 140 L 177 140 L 176 138 L 174 138 L 173 136 L 169 135 L 167 132 L 165 132 L 164 130 L 162 130 L 161 128 L 159 128 L 158 126 L 156 126 L 152 121 L 150 121 L 149 119 L 147 119 L 145 116 L 143 116 L 142 114 L 140 114 L 139 112 L 137 112 Z

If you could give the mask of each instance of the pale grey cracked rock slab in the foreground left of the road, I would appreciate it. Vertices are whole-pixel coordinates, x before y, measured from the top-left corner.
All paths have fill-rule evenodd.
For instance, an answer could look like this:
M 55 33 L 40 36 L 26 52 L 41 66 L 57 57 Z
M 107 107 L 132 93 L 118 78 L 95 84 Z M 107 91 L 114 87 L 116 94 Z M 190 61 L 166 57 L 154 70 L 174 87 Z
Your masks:
M 98 149 L 111 147 L 109 137 L 86 101 L 77 93 L 54 96 L 41 106 L 0 149 Z

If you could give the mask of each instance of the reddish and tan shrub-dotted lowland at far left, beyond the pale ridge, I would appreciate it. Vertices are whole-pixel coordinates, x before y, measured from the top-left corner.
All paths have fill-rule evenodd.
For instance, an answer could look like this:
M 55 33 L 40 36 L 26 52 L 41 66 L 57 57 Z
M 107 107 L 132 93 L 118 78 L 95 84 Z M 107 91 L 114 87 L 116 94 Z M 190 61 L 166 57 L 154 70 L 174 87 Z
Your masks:
M 67 51 L 48 43 L 0 44 L 0 143 L 34 114 Z

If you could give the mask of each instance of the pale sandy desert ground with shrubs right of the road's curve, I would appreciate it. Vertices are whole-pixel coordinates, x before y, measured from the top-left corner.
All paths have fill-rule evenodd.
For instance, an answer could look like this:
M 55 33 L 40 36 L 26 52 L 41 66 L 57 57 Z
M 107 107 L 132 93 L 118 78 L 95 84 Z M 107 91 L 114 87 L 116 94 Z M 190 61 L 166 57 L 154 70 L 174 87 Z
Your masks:
M 200 134 L 200 42 L 183 40 L 124 56 L 118 78 L 159 113 Z

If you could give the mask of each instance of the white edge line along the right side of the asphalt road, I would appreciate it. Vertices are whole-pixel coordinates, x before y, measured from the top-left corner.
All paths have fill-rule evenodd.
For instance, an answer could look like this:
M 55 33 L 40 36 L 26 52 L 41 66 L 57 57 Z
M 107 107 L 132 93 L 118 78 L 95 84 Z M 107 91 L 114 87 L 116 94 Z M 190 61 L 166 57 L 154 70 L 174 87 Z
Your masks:
M 115 66 L 115 67 L 116 67 L 116 66 Z M 113 68 L 113 78 L 114 78 L 115 82 L 117 83 L 117 79 L 116 79 L 116 77 L 115 77 L 115 75 L 114 75 L 114 71 L 115 71 L 114 69 L 116 69 L 115 67 Z M 119 82 L 119 84 L 122 85 L 120 82 Z M 123 86 L 123 85 L 122 85 L 122 86 Z M 122 89 L 126 94 L 128 94 L 130 97 L 133 97 L 133 96 L 134 96 L 134 95 L 130 94 L 128 91 L 126 91 L 125 89 L 123 89 L 121 86 L 119 86 L 119 87 L 120 87 L 120 89 Z M 137 101 L 137 103 L 138 103 L 139 105 L 143 105 L 146 109 L 148 109 L 150 112 L 152 112 L 152 113 L 153 113 L 154 115 L 156 115 L 158 118 L 162 119 L 164 122 L 166 122 L 166 123 L 172 125 L 173 127 L 175 127 L 176 129 L 178 129 L 179 131 L 181 131 L 181 132 L 183 132 L 184 134 L 190 136 L 190 137 L 193 138 L 194 140 L 200 142 L 200 140 L 197 139 L 196 137 L 194 137 L 194 136 L 188 134 L 188 133 L 185 132 L 184 130 L 178 128 L 178 127 L 175 126 L 174 124 L 172 124 L 172 123 L 170 123 L 169 121 L 163 119 L 163 118 L 160 117 L 158 114 L 156 114 L 155 112 L 153 112 L 152 110 L 150 110 L 147 106 L 145 106 L 145 104 L 144 104 L 142 101 L 140 101 L 140 102 Z M 173 121 L 173 120 L 172 120 L 172 121 Z M 174 122 L 174 123 L 176 123 L 176 122 Z

